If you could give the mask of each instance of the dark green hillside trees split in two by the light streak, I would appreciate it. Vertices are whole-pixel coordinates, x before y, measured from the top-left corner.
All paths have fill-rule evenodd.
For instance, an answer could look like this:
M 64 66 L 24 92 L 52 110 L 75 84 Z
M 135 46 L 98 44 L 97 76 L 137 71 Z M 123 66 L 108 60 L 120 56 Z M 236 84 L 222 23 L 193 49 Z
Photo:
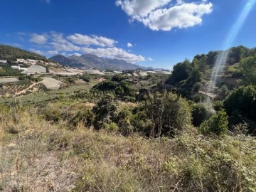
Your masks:
M 227 85 L 229 89 L 234 89 L 240 85 L 255 84 L 256 48 L 238 46 L 224 51 L 228 52 L 228 58 L 227 63 L 223 63 L 224 70 L 221 75 L 229 81 L 238 78 L 241 82 L 235 83 L 234 86 L 228 80 L 220 78 L 218 86 Z M 185 60 L 177 63 L 166 83 L 178 87 L 183 95 L 193 96 L 200 90 L 199 83 L 209 80 L 214 64 L 221 53 L 222 51 L 210 51 L 208 54 L 196 55 L 192 62 Z

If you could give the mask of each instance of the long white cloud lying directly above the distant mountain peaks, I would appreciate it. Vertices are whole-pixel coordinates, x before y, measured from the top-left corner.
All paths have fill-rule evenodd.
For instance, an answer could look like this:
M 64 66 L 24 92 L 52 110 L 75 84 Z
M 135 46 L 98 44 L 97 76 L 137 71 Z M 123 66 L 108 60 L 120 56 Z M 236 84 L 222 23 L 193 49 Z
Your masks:
M 128 53 L 122 48 L 82 48 L 82 50 L 85 53 L 97 55 L 98 57 L 122 59 L 129 63 L 137 63 L 145 60 L 142 55 Z

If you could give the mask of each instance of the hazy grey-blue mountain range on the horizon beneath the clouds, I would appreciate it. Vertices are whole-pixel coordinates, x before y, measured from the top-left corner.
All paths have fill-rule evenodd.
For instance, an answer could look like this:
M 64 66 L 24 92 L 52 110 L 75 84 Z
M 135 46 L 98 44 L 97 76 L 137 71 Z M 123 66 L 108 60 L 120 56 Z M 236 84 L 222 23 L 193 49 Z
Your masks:
M 72 68 L 97 68 L 99 70 L 136 70 L 138 68 L 146 69 L 139 65 L 128 63 L 125 60 L 101 58 L 92 54 L 81 56 L 71 55 L 66 58 L 63 55 L 55 55 L 50 60 L 54 60 L 62 65 L 68 65 Z

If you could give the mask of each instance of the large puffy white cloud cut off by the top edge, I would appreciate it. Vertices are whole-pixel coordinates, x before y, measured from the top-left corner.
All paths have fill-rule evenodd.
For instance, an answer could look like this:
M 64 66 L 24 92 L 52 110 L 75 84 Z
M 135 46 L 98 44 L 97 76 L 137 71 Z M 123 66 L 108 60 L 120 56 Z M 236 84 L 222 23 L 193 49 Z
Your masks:
M 117 0 L 116 5 L 130 16 L 154 31 L 171 31 L 172 28 L 188 28 L 202 23 L 203 16 L 213 11 L 213 4 L 203 0 L 185 3 L 177 0 Z

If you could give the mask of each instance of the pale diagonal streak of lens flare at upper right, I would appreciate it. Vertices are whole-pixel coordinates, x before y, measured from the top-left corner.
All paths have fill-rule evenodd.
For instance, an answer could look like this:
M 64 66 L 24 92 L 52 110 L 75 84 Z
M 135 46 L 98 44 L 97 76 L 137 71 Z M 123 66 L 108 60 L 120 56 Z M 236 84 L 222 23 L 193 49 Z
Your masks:
M 235 22 L 234 26 L 231 28 L 230 33 L 228 33 L 228 37 L 226 38 L 224 44 L 223 44 L 223 51 L 218 55 L 218 58 L 215 62 L 215 68 L 213 68 L 213 73 L 211 75 L 211 82 L 215 85 L 218 75 L 220 75 L 223 71 L 223 67 L 225 63 L 227 62 L 228 58 L 228 48 L 232 46 L 233 41 L 235 40 L 235 37 L 238 35 L 240 32 L 242 26 L 244 25 L 247 17 L 250 14 L 250 11 L 252 11 L 252 8 L 255 6 L 256 0 L 248 0 L 247 4 L 245 4 L 244 9 L 242 9 L 242 12 L 240 16 L 238 17 L 238 20 Z M 210 87 L 209 89 L 210 90 Z

